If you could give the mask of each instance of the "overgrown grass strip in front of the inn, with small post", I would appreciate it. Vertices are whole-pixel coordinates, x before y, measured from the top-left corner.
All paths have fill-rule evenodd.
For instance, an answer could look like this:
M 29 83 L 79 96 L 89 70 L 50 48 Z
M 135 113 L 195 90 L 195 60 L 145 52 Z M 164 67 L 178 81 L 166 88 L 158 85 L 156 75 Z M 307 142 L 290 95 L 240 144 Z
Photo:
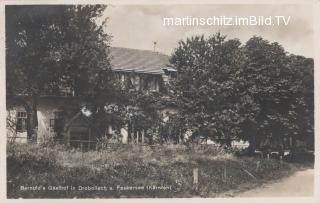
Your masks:
M 296 164 L 208 145 L 123 145 L 81 152 L 10 145 L 8 198 L 216 197 L 288 176 Z M 196 172 L 198 171 L 198 172 Z

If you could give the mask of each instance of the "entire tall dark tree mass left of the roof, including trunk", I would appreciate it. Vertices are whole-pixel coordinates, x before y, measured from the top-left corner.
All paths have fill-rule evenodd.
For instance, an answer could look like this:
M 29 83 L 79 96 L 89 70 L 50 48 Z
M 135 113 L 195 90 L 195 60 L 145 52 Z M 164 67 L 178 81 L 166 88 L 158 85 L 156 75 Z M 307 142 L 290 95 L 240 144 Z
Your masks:
M 99 106 L 109 86 L 108 42 L 104 23 L 95 20 L 105 6 L 7 6 L 7 99 L 20 95 L 27 112 L 28 138 L 37 135 L 37 102 L 48 92 L 71 87 L 80 100 Z M 103 92 L 103 90 L 108 90 Z M 101 105 L 100 105 L 101 106 Z

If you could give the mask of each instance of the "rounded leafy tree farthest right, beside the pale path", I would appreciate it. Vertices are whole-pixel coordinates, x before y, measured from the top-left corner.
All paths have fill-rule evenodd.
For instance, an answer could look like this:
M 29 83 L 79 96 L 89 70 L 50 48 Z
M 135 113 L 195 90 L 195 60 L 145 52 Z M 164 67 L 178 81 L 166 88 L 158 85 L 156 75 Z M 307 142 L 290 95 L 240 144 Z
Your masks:
M 306 129 L 312 131 L 313 78 L 305 74 L 306 68 L 313 66 L 310 59 L 307 65 L 304 57 L 288 56 L 281 45 L 261 37 L 249 39 L 244 52 L 247 59 L 243 77 L 258 111 L 255 119 L 244 122 L 240 137 L 249 140 L 252 149 L 266 139 L 271 141 L 270 147 L 283 148 L 290 136 L 297 138 L 305 135 Z

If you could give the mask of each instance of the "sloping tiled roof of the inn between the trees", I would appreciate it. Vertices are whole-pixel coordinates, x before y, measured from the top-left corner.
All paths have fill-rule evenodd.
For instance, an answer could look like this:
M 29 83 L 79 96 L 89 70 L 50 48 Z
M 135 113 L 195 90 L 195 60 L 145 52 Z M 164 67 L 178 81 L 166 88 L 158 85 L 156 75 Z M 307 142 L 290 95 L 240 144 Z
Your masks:
M 115 71 L 163 74 L 169 64 L 169 56 L 148 50 L 111 47 L 110 54 Z

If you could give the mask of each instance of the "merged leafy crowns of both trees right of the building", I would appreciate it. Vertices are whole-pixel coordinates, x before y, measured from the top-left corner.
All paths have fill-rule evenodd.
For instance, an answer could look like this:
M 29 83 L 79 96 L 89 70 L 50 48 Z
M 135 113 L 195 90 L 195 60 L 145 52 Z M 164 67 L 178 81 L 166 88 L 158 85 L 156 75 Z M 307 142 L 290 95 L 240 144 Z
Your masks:
M 217 33 L 179 42 L 171 63 L 178 70 L 170 86 L 180 106 L 175 123 L 191 138 L 244 139 L 254 147 L 266 140 L 283 147 L 291 135 L 312 140 L 312 59 L 260 37 L 242 46 Z

